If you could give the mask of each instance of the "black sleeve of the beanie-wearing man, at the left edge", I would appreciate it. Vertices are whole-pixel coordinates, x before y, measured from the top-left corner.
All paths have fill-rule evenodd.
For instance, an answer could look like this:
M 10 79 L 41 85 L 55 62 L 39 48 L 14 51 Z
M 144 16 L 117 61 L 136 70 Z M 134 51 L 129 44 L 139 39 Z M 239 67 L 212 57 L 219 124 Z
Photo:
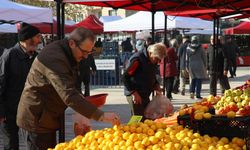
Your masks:
M 0 117 L 5 116 L 3 93 L 5 91 L 6 78 L 8 75 L 8 62 L 9 52 L 5 50 L 0 57 Z

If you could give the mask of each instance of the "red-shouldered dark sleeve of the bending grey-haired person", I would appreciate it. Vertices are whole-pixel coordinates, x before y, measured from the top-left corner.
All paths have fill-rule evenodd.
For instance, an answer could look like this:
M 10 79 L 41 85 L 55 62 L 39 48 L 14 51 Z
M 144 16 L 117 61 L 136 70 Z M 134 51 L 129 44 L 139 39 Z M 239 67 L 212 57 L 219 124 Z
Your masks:
M 136 91 L 136 81 L 134 78 L 135 72 L 137 68 L 139 67 L 139 60 L 133 59 L 128 65 L 128 68 L 123 74 L 123 82 L 124 86 L 127 88 L 128 91 L 132 94 L 134 91 Z

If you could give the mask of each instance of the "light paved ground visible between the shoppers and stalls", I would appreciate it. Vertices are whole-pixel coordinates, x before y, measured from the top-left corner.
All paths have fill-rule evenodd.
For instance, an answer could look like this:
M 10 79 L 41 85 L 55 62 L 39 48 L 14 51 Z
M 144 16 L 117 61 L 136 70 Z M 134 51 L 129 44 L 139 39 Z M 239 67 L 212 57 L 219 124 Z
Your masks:
M 237 76 L 235 78 L 229 78 L 229 83 L 231 88 L 240 86 L 245 83 L 247 79 L 250 79 L 250 67 L 238 67 L 237 68 Z M 186 85 L 186 95 L 182 96 L 180 94 L 173 94 L 172 103 L 174 105 L 175 110 L 184 104 L 192 104 L 197 99 L 190 99 L 188 94 L 188 85 Z M 218 92 L 220 93 L 219 84 L 217 85 Z M 102 88 L 93 88 L 91 89 L 91 95 L 107 93 L 108 97 L 106 100 L 106 104 L 101 108 L 103 111 L 116 112 L 119 114 L 121 118 L 122 124 L 126 124 L 130 119 L 130 109 L 128 103 L 126 101 L 126 97 L 123 95 L 122 87 L 102 87 Z M 206 80 L 203 82 L 201 96 L 207 97 L 209 95 L 209 81 Z M 65 140 L 69 141 L 74 138 L 74 132 L 72 127 L 72 113 L 73 110 L 68 108 L 66 110 L 65 116 Z M 103 129 L 106 127 L 111 127 L 110 124 L 101 123 L 96 121 L 91 121 L 91 125 L 93 129 Z M 1 132 L 0 132 L 1 133 Z M 20 150 L 25 150 L 23 140 L 20 138 Z M 3 149 L 3 140 L 2 133 L 0 134 L 0 150 Z

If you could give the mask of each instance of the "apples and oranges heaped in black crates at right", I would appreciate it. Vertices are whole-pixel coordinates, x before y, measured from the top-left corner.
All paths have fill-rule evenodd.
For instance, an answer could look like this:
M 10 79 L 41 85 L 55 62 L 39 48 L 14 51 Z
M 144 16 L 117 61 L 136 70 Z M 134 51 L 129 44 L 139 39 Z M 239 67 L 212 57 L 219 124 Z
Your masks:
M 178 123 L 202 135 L 250 137 L 249 81 L 235 89 L 226 90 L 222 97 L 210 95 L 190 107 L 181 108 Z

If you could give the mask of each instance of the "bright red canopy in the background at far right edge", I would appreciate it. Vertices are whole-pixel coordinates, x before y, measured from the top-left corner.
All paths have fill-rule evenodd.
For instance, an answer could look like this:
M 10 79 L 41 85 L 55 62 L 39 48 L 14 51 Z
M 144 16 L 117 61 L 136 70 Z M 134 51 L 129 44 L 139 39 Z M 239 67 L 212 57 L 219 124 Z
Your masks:
M 250 34 L 250 22 L 242 22 L 236 27 L 227 28 L 224 30 L 224 33 L 227 35 L 232 34 Z

